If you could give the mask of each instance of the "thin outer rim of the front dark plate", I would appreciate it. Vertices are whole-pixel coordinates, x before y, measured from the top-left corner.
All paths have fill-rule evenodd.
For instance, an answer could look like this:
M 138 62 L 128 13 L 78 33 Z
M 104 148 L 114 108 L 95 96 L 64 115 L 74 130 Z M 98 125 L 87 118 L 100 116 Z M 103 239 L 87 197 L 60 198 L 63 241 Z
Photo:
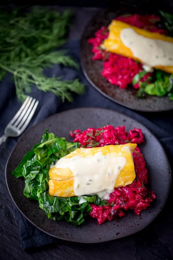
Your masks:
M 162 153 L 163 153 L 164 156 L 165 156 L 165 159 L 166 159 L 166 161 L 167 161 L 167 165 L 168 165 L 168 168 L 169 168 L 169 175 L 168 175 L 168 176 L 169 176 L 169 188 L 168 188 L 168 190 L 167 190 L 167 196 L 165 197 L 164 202 L 162 202 L 162 207 L 159 208 L 159 210 L 157 211 L 157 214 L 155 214 L 155 215 L 153 216 L 153 218 L 151 218 L 150 221 L 148 221 L 148 223 L 146 223 L 145 226 L 143 226 L 142 228 L 138 228 L 138 230 L 136 230 L 135 232 L 134 232 L 134 231 L 129 232 L 129 234 L 126 235 L 126 236 L 115 237 L 114 239 L 119 239 L 119 238 L 122 238 L 122 237 L 127 237 L 127 236 L 130 236 L 130 235 L 133 235 L 133 234 L 135 234 L 135 233 L 137 233 L 137 232 L 143 230 L 143 229 L 146 228 L 151 222 L 153 222 L 153 220 L 158 216 L 158 214 L 160 213 L 160 211 L 163 209 L 163 207 L 164 207 L 164 205 L 165 205 L 165 202 L 166 202 L 166 200 L 167 200 L 167 198 L 168 198 L 169 191 L 170 191 L 170 187 L 171 187 L 172 175 L 171 175 L 171 167 L 170 167 L 170 164 L 169 164 L 169 160 L 168 160 L 168 158 L 167 158 L 167 154 L 165 153 L 165 150 L 164 150 L 162 144 L 161 144 L 160 141 L 156 138 L 156 136 L 155 136 L 146 126 L 144 126 L 142 123 L 138 122 L 137 120 L 135 120 L 135 119 L 133 119 L 133 118 L 127 116 L 127 115 L 124 115 L 124 114 L 122 114 L 122 113 L 119 113 L 119 112 L 117 112 L 117 111 L 114 111 L 114 110 L 112 110 L 112 109 L 96 108 L 96 107 L 90 107 L 90 108 L 87 108 L 87 107 L 86 107 L 86 108 L 85 108 L 85 107 L 84 107 L 84 108 L 74 108 L 74 109 L 71 109 L 71 110 L 79 111 L 79 110 L 81 110 L 81 109 L 82 109 L 82 110 L 92 110 L 92 109 L 95 110 L 95 109 L 100 109 L 100 110 L 112 111 L 112 112 L 115 112 L 116 114 L 118 114 L 119 116 L 125 117 L 126 120 L 134 120 L 134 122 L 139 123 L 145 130 L 147 130 L 147 132 L 152 136 L 152 138 L 160 145 L 160 149 L 162 150 Z M 52 115 L 52 116 L 50 116 L 50 117 L 48 117 L 48 118 L 49 118 L 49 119 L 50 119 L 50 118 L 54 118 L 54 117 L 56 117 L 57 115 L 63 114 L 63 113 L 67 113 L 68 111 L 69 111 L 69 110 L 65 110 L 65 111 L 63 111 L 63 112 L 61 112 L 61 113 L 54 114 L 54 115 Z M 47 120 L 48 118 L 46 118 L 46 119 L 40 121 L 40 122 L 37 123 L 36 125 L 34 125 L 34 126 L 32 126 L 31 128 L 29 128 L 29 129 L 21 136 L 21 138 L 17 141 L 16 145 L 13 147 L 13 149 L 12 149 L 10 155 L 9 155 L 9 158 L 8 158 L 8 160 L 7 160 L 6 167 L 5 167 L 5 180 L 6 180 L 6 185 L 7 185 L 8 191 L 9 191 L 9 193 L 10 193 L 10 196 L 11 196 L 11 198 L 12 198 L 14 204 L 16 205 L 16 207 L 17 207 L 17 209 L 20 211 L 20 213 L 22 213 L 22 215 L 23 215 L 32 225 L 34 225 L 34 226 L 35 226 L 36 228 L 38 228 L 39 230 L 41 230 L 42 232 L 44 232 L 44 233 L 46 233 L 47 235 L 50 235 L 50 236 L 52 236 L 52 237 L 59 238 L 59 239 L 61 239 L 61 240 L 65 240 L 65 241 L 77 242 L 77 243 L 86 243 L 86 244 L 90 244 L 90 243 L 101 243 L 101 242 L 106 242 L 106 241 L 112 241 L 112 240 L 114 240 L 114 239 L 107 239 L 107 240 L 95 241 L 95 242 L 87 242 L 87 241 L 86 241 L 86 242 L 84 242 L 84 241 L 81 242 L 81 241 L 74 241 L 73 239 L 64 239 L 64 238 L 61 238 L 60 236 L 55 236 L 54 234 L 49 233 L 49 232 L 45 231 L 44 229 L 38 227 L 36 224 L 34 224 L 27 216 L 25 216 L 25 214 L 22 212 L 22 210 L 20 210 L 20 208 L 17 206 L 15 200 L 13 199 L 13 196 L 12 196 L 12 194 L 11 194 L 11 192 L 10 192 L 10 189 L 9 189 L 9 186 L 8 186 L 7 173 L 6 173 L 6 172 L 7 172 L 7 166 L 8 166 L 9 159 L 10 159 L 12 153 L 13 153 L 13 150 L 14 150 L 14 149 L 16 148 L 16 146 L 19 144 L 20 140 L 21 140 L 22 138 L 24 138 L 24 137 L 25 137 L 30 131 L 32 131 L 34 128 L 38 127 L 38 125 L 39 125 L 40 123 L 46 122 L 46 120 Z M 151 206 L 151 207 L 152 207 L 152 206 Z M 135 213 L 134 213 L 134 214 L 135 214 Z M 45 215 L 45 217 L 47 218 L 46 215 Z M 126 216 L 125 216 L 125 217 L 126 217 Z M 111 222 L 110 222 L 110 223 L 111 223 Z M 97 223 L 97 224 L 98 224 L 98 223 Z M 70 225 L 70 224 L 67 223 L 67 225 Z M 86 223 L 85 225 L 87 225 L 87 223 Z M 104 223 L 103 223 L 103 225 L 104 225 Z

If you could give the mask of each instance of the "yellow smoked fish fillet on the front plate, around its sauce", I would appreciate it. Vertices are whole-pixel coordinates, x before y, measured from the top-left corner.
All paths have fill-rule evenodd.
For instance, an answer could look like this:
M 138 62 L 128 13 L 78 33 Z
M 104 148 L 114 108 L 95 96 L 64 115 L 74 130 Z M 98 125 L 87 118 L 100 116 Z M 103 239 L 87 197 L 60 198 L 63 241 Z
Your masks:
M 100 153 L 102 156 L 124 157 L 126 164 L 117 176 L 114 187 L 126 186 L 131 184 L 135 179 L 135 169 L 132 153 L 136 148 L 136 144 L 124 145 L 108 145 L 96 148 L 77 148 L 75 151 L 63 157 L 79 158 L 79 157 L 93 157 Z M 61 158 L 61 159 L 63 159 Z M 60 159 L 60 160 L 61 160 Z M 60 161 L 59 160 L 59 161 Z M 117 166 L 117 165 L 116 165 Z M 113 166 L 114 167 L 114 166 Z M 82 172 L 81 168 L 81 172 Z M 105 173 L 106 174 L 106 173 Z M 74 192 L 74 174 L 69 168 L 52 167 L 49 171 L 49 194 L 58 197 L 71 197 L 76 196 Z M 114 184 L 113 184 L 114 185 Z M 85 194 L 83 194 L 85 195 Z

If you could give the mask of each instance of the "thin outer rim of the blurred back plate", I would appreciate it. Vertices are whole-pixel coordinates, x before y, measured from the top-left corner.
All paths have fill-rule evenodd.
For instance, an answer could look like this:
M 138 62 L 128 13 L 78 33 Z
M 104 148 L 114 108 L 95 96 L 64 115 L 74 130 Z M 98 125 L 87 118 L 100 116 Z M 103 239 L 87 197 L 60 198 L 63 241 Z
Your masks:
M 121 2 L 121 1 L 120 1 L 120 2 Z M 128 5 L 128 3 L 126 3 L 126 4 Z M 140 107 L 134 108 L 133 105 L 132 105 L 132 106 L 131 106 L 131 105 L 128 105 L 128 104 L 126 104 L 126 103 L 124 103 L 124 102 L 118 101 L 117 99 L 115 99 L 115 98 L 109 96 L 108 94 L 106 94 L 105 92 L 103 92 L 98 86 L 96 86 L 96 85 L 94 84 L 94 82 L 90 79 L 90 77 L 88 76 L 88 74 L 87 74 L 87 72 L 86 72 L 85 64 L 84 64 L 83 59 L 82 59 L 82 52 L 81 52 L 81 49 L 82 49 L 82 39 L 83 39 L 83 37 L 84 37 L 84 35 L 85 35 L 85 30 L 86 30 L 86 28 L 90 25 L 90 23 L 91 23 L 93 20 L 95 20 L 95 17 L 96 17 L 97 15 L 99 15 L 100 12 L 102 12 L 103 10 L 106 11 L 107 9 L 106 9 L 106 8 L 103 8 L 101 11 L 99 10 L 99 11 L 96 12 L 96 14 L 88 21 L 87 25 L 86 25 L 85 28 L 84 28 L 84 31 L 83 31 L 83 33 L 82 33 L 82 36 L 81 36 L 81 38 L 80 38 L 80 54 L 79 54 L 79 56 L 80 56 L 80 64 L 81 64 L 82 71 L 83 71 L 84 76 L 86 77 L 87 81 L 91 84 L 92 87 L 94 87 L 94 88 L 95 88 L 99 93 L 101 93 L 103 96 L 107 97 L 107 98 L 110 99 L 111 101 L 113 101 L 113 102 L 115 102 L 115 103 L 117 103 L 117 104 L 119 104 L 119 105 L 121 105 L 121 106 L 123 106 L 123 107 L 127 107 L 127 108 L 130 108 L 130 109 L 132 109 L 132 110 L 136 110 L 136 111 L 150 112 L 150 113 L 166 112 L 166 111 L 173 110 L 173 108 L 168 108 L 168 109 L 161 109 L 161 110 L 160 110 L 160 109 L 157 109 L 157 110 L 153 110 L 153 111 L 152 111 L 151 109 L 147 109 L 147 108 L 140 108 Z M 158 97 L 158 98 L 161 99 L 161 97 Z

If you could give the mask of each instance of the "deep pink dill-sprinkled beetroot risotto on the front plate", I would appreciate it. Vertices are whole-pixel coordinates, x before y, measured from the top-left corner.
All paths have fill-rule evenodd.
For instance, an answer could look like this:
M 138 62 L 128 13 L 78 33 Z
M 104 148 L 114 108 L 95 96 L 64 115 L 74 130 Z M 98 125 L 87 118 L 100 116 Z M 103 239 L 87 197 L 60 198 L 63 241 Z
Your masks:
M 130 143 L 141 144 L 144 142 L 141 129 L 134 128 L 127 132 L 125 126 L 107 125 L 102 128 L 88 128 L 81 132 L 79 129 L 70 132 L 74 142 L 79 142 L 81 147 L 100 147 L 105 145 L 120 145 Z M 110 194 L 109 201 L 104 206 L 90 204 L 92 211 L 90 216 L 98 220 L 99 225 L 105 220 L 116 220 L 125 215 L 126 210 L 133 210 L 137 215 L 146 210 L 150 203 L 156 199 L 154 191 L 148 191 L 145 186 L 148 183 L 148 174 L 144 156 L 137 146 L 133 152 L 136 179 L 132 184 L 115 188 Z

